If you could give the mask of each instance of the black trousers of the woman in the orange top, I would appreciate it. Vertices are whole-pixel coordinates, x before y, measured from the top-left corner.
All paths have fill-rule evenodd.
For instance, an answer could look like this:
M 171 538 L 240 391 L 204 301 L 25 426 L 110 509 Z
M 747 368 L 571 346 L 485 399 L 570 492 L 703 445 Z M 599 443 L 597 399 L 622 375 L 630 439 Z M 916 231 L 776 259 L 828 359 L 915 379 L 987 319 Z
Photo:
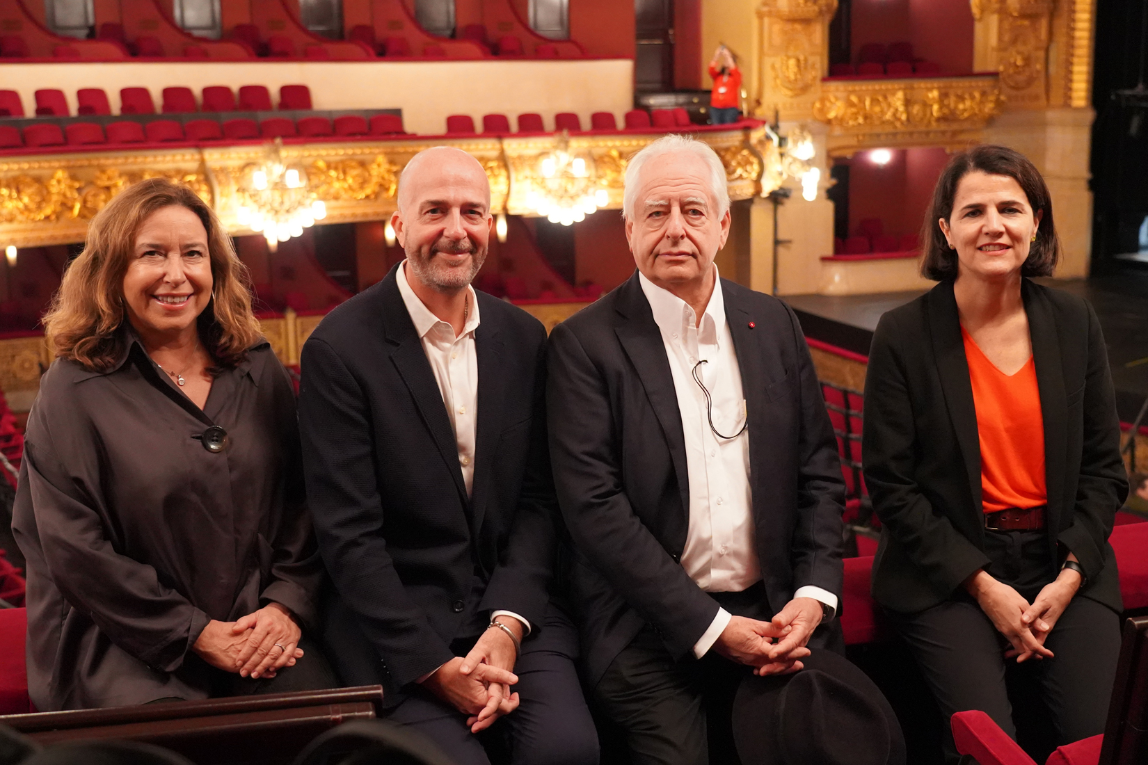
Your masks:
M 985 553 L 992 560 L 986 571 L 1030 603 L 1056 578 L 1042 531 L 986 531 Z M 1024 664 L 1004 658 L 1009 642 L 963 591 L 920 614 L 887 614 L 940 707 L 946 763 L 960 760 L 949 725 L 954 712 L 979 709 L 1017 739 L 1010 701 L 1017 688 L 1037 688 L 1052 718 L 1055 740 L 1038 735 L 1030 747 L 1038 763 L 1061 744 L 1104 732 L 1120 651 L 1119 615 L 1107 606 L 1073 598 L 1045 641 L 1055 657 Z

